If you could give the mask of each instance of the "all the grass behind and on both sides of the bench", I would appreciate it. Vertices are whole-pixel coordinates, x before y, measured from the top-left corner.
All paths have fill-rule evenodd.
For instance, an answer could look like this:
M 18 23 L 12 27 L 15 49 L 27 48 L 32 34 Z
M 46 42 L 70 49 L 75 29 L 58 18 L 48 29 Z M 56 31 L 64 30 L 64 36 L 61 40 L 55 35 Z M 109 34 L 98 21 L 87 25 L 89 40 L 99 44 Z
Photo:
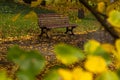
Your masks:
M 30 11 L 39 13 L 54 12 L 52 10 L 31 8 L 29 6 L 17 3 L 0 3 L 0 38 L 19 37 L 30 34 L 39 34 L 40 30 L 37 24 L 37 18 L 25 19 L 24 16 Z M 12 21 L 13 17 L 21 13 L 16 21 Z M 88 30 L 96 30 L 100 27 L 96 19 L 87 14 L 84 19 L 77 19 L 77 12 L 68 13 L 71 23 L 78 24 L 75 29 L 76 33 Z M 97 25 L 97 26 L 96 26 Z M 64 31 L 65 29 L 53 29 L 53 32 Z

